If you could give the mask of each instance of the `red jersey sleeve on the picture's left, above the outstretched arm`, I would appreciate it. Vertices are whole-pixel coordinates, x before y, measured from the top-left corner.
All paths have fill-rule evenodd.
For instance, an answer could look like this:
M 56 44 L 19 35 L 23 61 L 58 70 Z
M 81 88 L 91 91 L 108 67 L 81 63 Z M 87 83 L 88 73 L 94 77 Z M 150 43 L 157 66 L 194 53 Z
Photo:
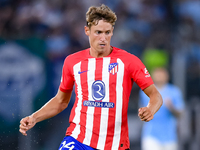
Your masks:
M 71 61 L 69 57 L 67 57 L 64 61 L 61 83 L 59 87 L 62 92 L 70 92 L 73 90 L 74 77 L 72 71 L 73 67 L 71 65 Z

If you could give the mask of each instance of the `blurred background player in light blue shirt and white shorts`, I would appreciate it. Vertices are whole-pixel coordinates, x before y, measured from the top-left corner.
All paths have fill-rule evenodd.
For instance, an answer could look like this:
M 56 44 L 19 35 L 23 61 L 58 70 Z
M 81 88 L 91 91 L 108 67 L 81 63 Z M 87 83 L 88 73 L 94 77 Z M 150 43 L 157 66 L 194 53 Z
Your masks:
M 142 150 L 178 150 L 177 119 L 184 109 L 180 89 L 169 83 L 166 68 L 152 70 L 152 79 L 163 97 L 163 105 L 154 119 L 144 123 L 142 129 Z M 149 98 L 140 91 L 140 106 L 145 106 Z

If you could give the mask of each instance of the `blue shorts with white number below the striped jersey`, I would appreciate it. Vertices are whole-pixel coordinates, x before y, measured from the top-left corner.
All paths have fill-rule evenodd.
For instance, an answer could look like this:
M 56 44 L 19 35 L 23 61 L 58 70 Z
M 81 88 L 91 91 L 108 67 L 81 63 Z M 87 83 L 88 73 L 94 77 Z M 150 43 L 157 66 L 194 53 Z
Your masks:
M 96 149 L 77 141 L 72 136 L 66 136 L 61 142 L 58 150 L 96 150 Z

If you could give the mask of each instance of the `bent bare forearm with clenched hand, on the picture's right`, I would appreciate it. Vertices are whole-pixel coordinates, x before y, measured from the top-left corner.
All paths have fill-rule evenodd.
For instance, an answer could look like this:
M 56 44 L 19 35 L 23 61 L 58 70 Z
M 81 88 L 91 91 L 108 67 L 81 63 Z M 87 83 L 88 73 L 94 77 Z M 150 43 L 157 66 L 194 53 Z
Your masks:
M 146 107 L 139 108 L 138 116 L 142 121 L 148 122 L 153 119 L 154 114 L 162 106 L 163 99 L 154 84 L 145 88 L 143 91 L 150 98 L 150 100 Z

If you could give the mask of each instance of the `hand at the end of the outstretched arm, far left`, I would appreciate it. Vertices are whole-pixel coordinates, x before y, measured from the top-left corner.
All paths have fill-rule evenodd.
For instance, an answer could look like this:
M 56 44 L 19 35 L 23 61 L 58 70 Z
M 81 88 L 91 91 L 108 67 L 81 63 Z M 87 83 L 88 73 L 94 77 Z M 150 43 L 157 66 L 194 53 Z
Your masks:
M 35 119 L 33 118 L 33 116 L 25 117 L 20 121 L 19 132 L 21 132 L 23 135 L 27 136 L 26 131 L 31 129 L 35 124 L 36 124 L 36 122 L 35 122 Z

